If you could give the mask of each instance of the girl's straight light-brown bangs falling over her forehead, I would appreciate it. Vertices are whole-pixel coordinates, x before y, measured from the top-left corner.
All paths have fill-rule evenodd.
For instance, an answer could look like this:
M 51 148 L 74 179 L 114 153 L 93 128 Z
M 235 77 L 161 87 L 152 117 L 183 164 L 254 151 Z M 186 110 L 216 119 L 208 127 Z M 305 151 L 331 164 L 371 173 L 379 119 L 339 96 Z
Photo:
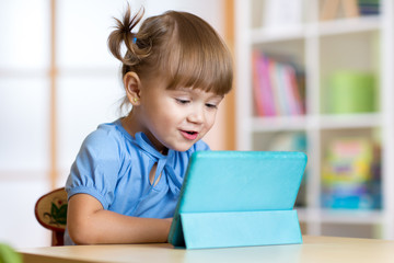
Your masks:
M 232 88 L 232 60 L 224 43 L 206 24 L 177 23 L 169 52 L 162 58 L 169 76 L 167 89 L 202 89 L 220 95 Z

